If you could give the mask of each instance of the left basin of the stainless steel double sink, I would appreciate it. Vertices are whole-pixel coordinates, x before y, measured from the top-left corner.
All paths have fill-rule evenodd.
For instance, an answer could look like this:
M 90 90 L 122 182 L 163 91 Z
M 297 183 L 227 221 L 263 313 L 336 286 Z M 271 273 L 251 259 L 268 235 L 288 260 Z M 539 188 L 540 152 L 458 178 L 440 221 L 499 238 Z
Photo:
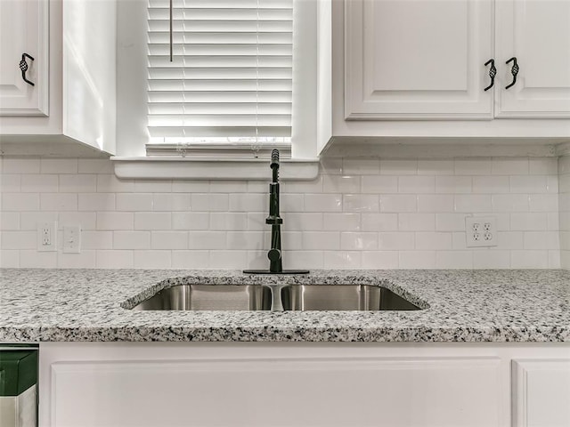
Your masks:
M 271 310 L 266 286 L 180 285 L 159 291 L 133 310 Z

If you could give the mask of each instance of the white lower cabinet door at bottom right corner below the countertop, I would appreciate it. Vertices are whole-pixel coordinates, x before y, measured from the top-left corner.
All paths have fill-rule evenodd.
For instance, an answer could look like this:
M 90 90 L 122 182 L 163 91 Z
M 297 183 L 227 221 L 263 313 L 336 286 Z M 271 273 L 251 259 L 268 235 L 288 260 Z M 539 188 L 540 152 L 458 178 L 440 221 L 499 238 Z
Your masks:
M 512 362 L 513 427 L 570 425 L 570 359 Z

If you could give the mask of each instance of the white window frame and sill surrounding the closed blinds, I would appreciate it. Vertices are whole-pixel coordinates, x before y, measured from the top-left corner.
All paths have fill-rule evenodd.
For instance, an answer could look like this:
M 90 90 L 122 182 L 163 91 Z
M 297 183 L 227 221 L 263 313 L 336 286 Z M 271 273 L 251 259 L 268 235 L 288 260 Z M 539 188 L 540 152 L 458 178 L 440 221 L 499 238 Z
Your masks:
M 293 112 L 290 164 L 284 180 L 311 180 L 318 174 L 318 98 L 320 1 L 294 0 Z M 147 1 L 118 2 L 117 156 L 111 157 L 120 178 L 135 179 L 264 179 L 265 158 L 147 157 Z M 302 41 L 302 42 L 301 42 Z M 119 83 L 120 82 L 120 83 Z M 290 168 L 291 173 L 287 173 Z M 266 172 L 266 171 L 265 171 Z M 267 175 L 268 176 L 268 175 Z

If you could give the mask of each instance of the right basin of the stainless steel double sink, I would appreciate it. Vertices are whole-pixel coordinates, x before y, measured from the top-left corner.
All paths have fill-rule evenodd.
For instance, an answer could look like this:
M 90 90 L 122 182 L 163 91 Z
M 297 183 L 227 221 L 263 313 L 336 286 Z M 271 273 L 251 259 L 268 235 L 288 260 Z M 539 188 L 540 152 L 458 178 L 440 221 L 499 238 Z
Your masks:
M 284 310 L 420 310 L 386 287 L 290 285 L 281 289 Z

